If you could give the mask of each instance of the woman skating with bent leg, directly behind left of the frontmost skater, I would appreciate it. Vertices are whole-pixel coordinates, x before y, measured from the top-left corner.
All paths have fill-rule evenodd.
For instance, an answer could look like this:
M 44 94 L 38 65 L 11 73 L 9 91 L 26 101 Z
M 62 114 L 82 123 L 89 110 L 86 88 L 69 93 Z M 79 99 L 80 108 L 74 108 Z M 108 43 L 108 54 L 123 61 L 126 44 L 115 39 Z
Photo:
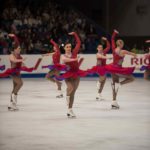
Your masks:
M 59 76 L 60 70 L 64 70 L 65 66 L 60 64 L 61 53 L 60 53 L 59 46 L 53 40 L 51 40 L 50 42 L 51 42 L 51 44 L 53 44 L 53 51 L 54 52 L 43 54 L 43 56 L 50 56 L 51 55 L 52 56 L 52 64 L 48 65 L 48 66 L 42 66 L 42 68 L 49 68 L 50 69 L 50 71 L 46 74 L 46 78 L 48 80 L 50 80 L 51 82 L 56 83 L 57 90 L 58 90 L 58 95 L 56 96 L 56 98 L 62 98 L 63 97 L 63 93 L 61 90 L 62 83 L 53 77 L 54 77 L 54 75 Z

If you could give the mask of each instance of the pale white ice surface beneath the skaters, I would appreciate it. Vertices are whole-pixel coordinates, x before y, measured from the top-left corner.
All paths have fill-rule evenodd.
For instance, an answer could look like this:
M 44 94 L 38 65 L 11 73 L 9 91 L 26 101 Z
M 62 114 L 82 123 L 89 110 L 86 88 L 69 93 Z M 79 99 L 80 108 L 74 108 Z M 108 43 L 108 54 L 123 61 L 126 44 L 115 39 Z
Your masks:
M 0 150 L 150 150 L 150 82 L 136 78 L 118 93 L 119 110 L 111 109 L 111 79 L 96 101 L 97 78 L 81 79 L 74 102 L 76 119 L 68 119 L 55 84 L 23 79 L 19 111 L 7 110 L 11 79 L 0 79 Z

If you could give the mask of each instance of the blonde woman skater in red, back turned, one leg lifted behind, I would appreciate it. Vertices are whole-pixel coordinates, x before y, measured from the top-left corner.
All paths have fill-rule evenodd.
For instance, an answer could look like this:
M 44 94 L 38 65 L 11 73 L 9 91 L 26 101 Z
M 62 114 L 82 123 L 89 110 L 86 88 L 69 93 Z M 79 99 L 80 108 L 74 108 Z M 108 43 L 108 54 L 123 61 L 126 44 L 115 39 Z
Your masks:
M 117 103 L 117 92 L 120 85 L 127 84 L 134 80 L 132 75 L 135 67 L 122 67 L 123 60 L 125 55 L 131 55 L 136 57 L 135 53 L 129 52 L 123 49 L 124 42 L 121 39 L 118 39 L 115 44 L 115 37 L 119 34 L 117 30 L 114 30 L 112 35 L 112 51 L 113 51 L 113 63 L 107 65 L 107 69 L 112 73 L 112 93 L 113 93 L 113 101 L 112 108 L 119 109 L 119 105 Z M 125 78 L 123 81 L 119 81 L 120 77 Z

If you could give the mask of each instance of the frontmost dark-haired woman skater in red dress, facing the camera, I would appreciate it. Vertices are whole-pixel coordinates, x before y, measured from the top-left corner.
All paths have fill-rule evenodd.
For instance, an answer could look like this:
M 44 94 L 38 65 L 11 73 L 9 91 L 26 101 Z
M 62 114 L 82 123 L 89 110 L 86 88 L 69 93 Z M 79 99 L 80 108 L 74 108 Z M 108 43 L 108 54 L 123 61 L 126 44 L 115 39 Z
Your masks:
M 66 100 L 68 106 L 67 116 L 74 118 L 76 117 L 76 115 L 74 114 L 72 107 L 74 103 L 75 92 L 79 86 L 80 77 L 86 76 L 87 72 L 79 69 L 79 66 L 83 60 L 81 58 L 78 62 L 77 57 L 77 54 L 81 46 L 81 41 L 75 32 L 71 32 L 69 33 L 69 35 L 73 35 L 75 37 L 76 46 L 72 50 L 71 43 L 66 43 L 64 45 L 65 54 L 62 55 L 62 61 L 64 62 L 64 64 L 67 65 L 68 70 L 63 75 L 59 76 L 59 79 L 65 79 L 65 83 L 67 85 L 66 91 Z

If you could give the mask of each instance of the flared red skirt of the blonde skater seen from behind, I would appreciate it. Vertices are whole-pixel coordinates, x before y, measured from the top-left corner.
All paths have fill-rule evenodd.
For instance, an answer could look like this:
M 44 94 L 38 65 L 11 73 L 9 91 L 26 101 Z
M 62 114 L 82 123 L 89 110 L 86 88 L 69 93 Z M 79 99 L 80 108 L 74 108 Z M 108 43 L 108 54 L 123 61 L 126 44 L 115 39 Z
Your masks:
M 113 64 L 108 64 L 105 66 L 105 69 L 109 73 L 130 75 L 134 72 L 135 67 L 122 67 L 122 66 L 115 66 Z

